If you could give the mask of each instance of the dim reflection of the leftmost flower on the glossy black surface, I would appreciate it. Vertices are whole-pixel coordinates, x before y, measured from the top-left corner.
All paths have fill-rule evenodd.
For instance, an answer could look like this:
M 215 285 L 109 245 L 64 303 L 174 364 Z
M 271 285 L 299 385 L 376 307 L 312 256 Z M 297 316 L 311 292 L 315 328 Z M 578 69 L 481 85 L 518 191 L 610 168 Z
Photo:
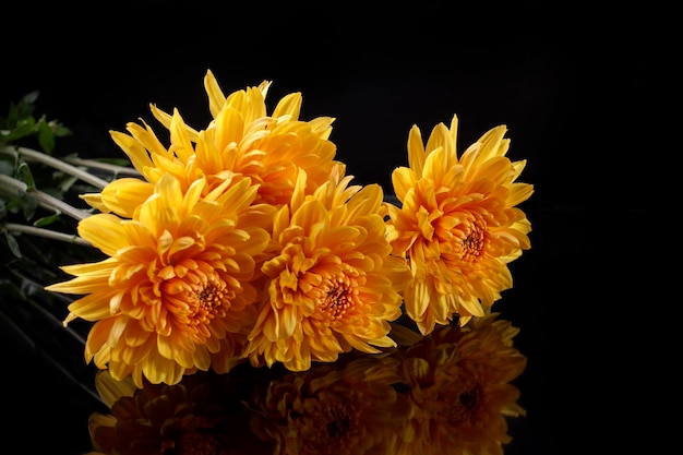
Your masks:
M 273 454 L 274 443 L 249 428 L 247 374 L 200 372 L 135 388 L 107 373 L 97 374 L 96 385 L 111 412 L 91 416 L 91 455 Z

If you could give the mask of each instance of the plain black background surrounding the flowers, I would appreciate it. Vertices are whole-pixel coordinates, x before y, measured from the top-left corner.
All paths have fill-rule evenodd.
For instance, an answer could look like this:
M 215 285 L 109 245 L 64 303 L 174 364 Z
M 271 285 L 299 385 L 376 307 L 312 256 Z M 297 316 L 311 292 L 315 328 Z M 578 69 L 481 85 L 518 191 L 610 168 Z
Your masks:
M 508 156 L 527 159 L 519 180 L 535 185 L 522 205 L 532 248 L 494 307 L 520 327 L 528 357 L 517 381 L 528 415 L 511 421 L 505 453 L 633 447 L 654 406 L 638 318 L 662 304 L 648 286 L 667 248 L 656 208 L 680 148 L 662 141 L 674 134 L 660 120 L 672 95 L 669 13 L 540 0 L 224 3 L 15 5 L 0 106 L 38 89 L 37 112 L 74 131 L 62 151 L 122 157 L 108 131 L 139 118 L 161 131 L 149 103 L 207 123 L 206 70 L 226 94 L 271 80 L 271 103 L 301 92 L 303 120 L 335 117 L 337 158 L 387 191 L 414 123 L 427 137 L 457 113 L 460 151 L 505 123 Z M 7 338 L 7 393 L 19 400 L 2 439 L 85 453 L 95 402 Z

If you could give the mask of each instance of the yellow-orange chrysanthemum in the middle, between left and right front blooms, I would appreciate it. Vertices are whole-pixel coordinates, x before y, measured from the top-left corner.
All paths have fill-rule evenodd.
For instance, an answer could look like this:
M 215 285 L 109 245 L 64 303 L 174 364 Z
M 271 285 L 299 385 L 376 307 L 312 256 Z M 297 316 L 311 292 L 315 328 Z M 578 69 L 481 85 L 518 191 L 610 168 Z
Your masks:
M 387 334 L 408 266 L 391 255 L 381 187 L 349 187 L 351 178 L 338 167 L 307 194 L 302 170 L 290 204 L 275 215 L 276 252 L 261 268 L 264 300 L 245 348 L 252 363 L 302 371 L 352 348 L 395 346 Z

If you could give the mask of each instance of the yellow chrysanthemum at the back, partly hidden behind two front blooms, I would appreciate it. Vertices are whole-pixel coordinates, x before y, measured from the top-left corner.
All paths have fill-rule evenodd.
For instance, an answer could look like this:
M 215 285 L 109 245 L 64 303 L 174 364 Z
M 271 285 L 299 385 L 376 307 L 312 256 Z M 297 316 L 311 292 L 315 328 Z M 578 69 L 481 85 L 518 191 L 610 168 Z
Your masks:
M 265 97 L 271 82 L 225 96 L 213 73 L 204 79 L 213 120 L 204 130 L 187 125 L 177 109 L 169 115 L 151 106 L 154 117 L 169 131 L 166 146 L 145 123 L 128 123 L 129 134 L 112 131 L 111 136 L 131 159 L 144 182 L 122 178 L 101 193 L 83 199 L 103 212 L 132 217 L 133 211 L 153 191 L 165 173 L 172 173 L 183 191 L 194 180 L 205 177 L 205 192 L 241 178 L 257 185 L 254 203 L 283 205 L 289 202 L 298 169 L 309 176 L 309 190 L 327 181 L 336 145 L 328 140 L 334 118 L 299 120 L 302 96 L 283 97 L 267 113 Z M 124 191 L 135 188 L 135 191 Z M 123 190 L 122 190 L 123 189 Z

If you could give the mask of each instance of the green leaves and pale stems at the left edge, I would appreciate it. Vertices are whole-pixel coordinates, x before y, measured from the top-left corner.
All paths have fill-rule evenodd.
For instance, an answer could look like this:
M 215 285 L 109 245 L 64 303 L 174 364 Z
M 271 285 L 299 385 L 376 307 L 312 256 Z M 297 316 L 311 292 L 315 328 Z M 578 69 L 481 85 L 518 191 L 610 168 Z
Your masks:
M 36 120 L 33 112 L 37 98 L 38 92 L 32 92 L 19 103 L 11 104 L 7 116 L 0 117 L 0 241 L 7 246 L 2 250 L 2 260 L 3 264 L 12 263 L 20 272 L 29 259 L 27 251 L 35 255 L 33 260 L 45 270 L 53 270 L 84 255 L 97 256 L 92 248 L 53 239 L 48 241 L 23 230 L 24 226 L 29 226 L 74 236 L 77 220 L 63 216 L 59 208 L 45 203 L 45 200 L 51 197 L 55 201 L 83 204 L 74 189 L 97 190 L 91 185 L 79 185 L 79 179 L 73 175 L 56 169 L 50 166 L 50 161 L 39 159 L 43 156 L 46 159 L 61 159 L 56 156 L 57 140 L 71 134 L 71 130 L 57 120 L 48 121 L 45 116 Z M 41 149 L 28 148 L 34 144 Z M 39 247 L 37 251 L 36 247 Z M 36 268 L 38 264 L 26 267 L 27 276 L 39 273 Z M 23 288 L 22 283 L 17 285 L 20 289 Z

